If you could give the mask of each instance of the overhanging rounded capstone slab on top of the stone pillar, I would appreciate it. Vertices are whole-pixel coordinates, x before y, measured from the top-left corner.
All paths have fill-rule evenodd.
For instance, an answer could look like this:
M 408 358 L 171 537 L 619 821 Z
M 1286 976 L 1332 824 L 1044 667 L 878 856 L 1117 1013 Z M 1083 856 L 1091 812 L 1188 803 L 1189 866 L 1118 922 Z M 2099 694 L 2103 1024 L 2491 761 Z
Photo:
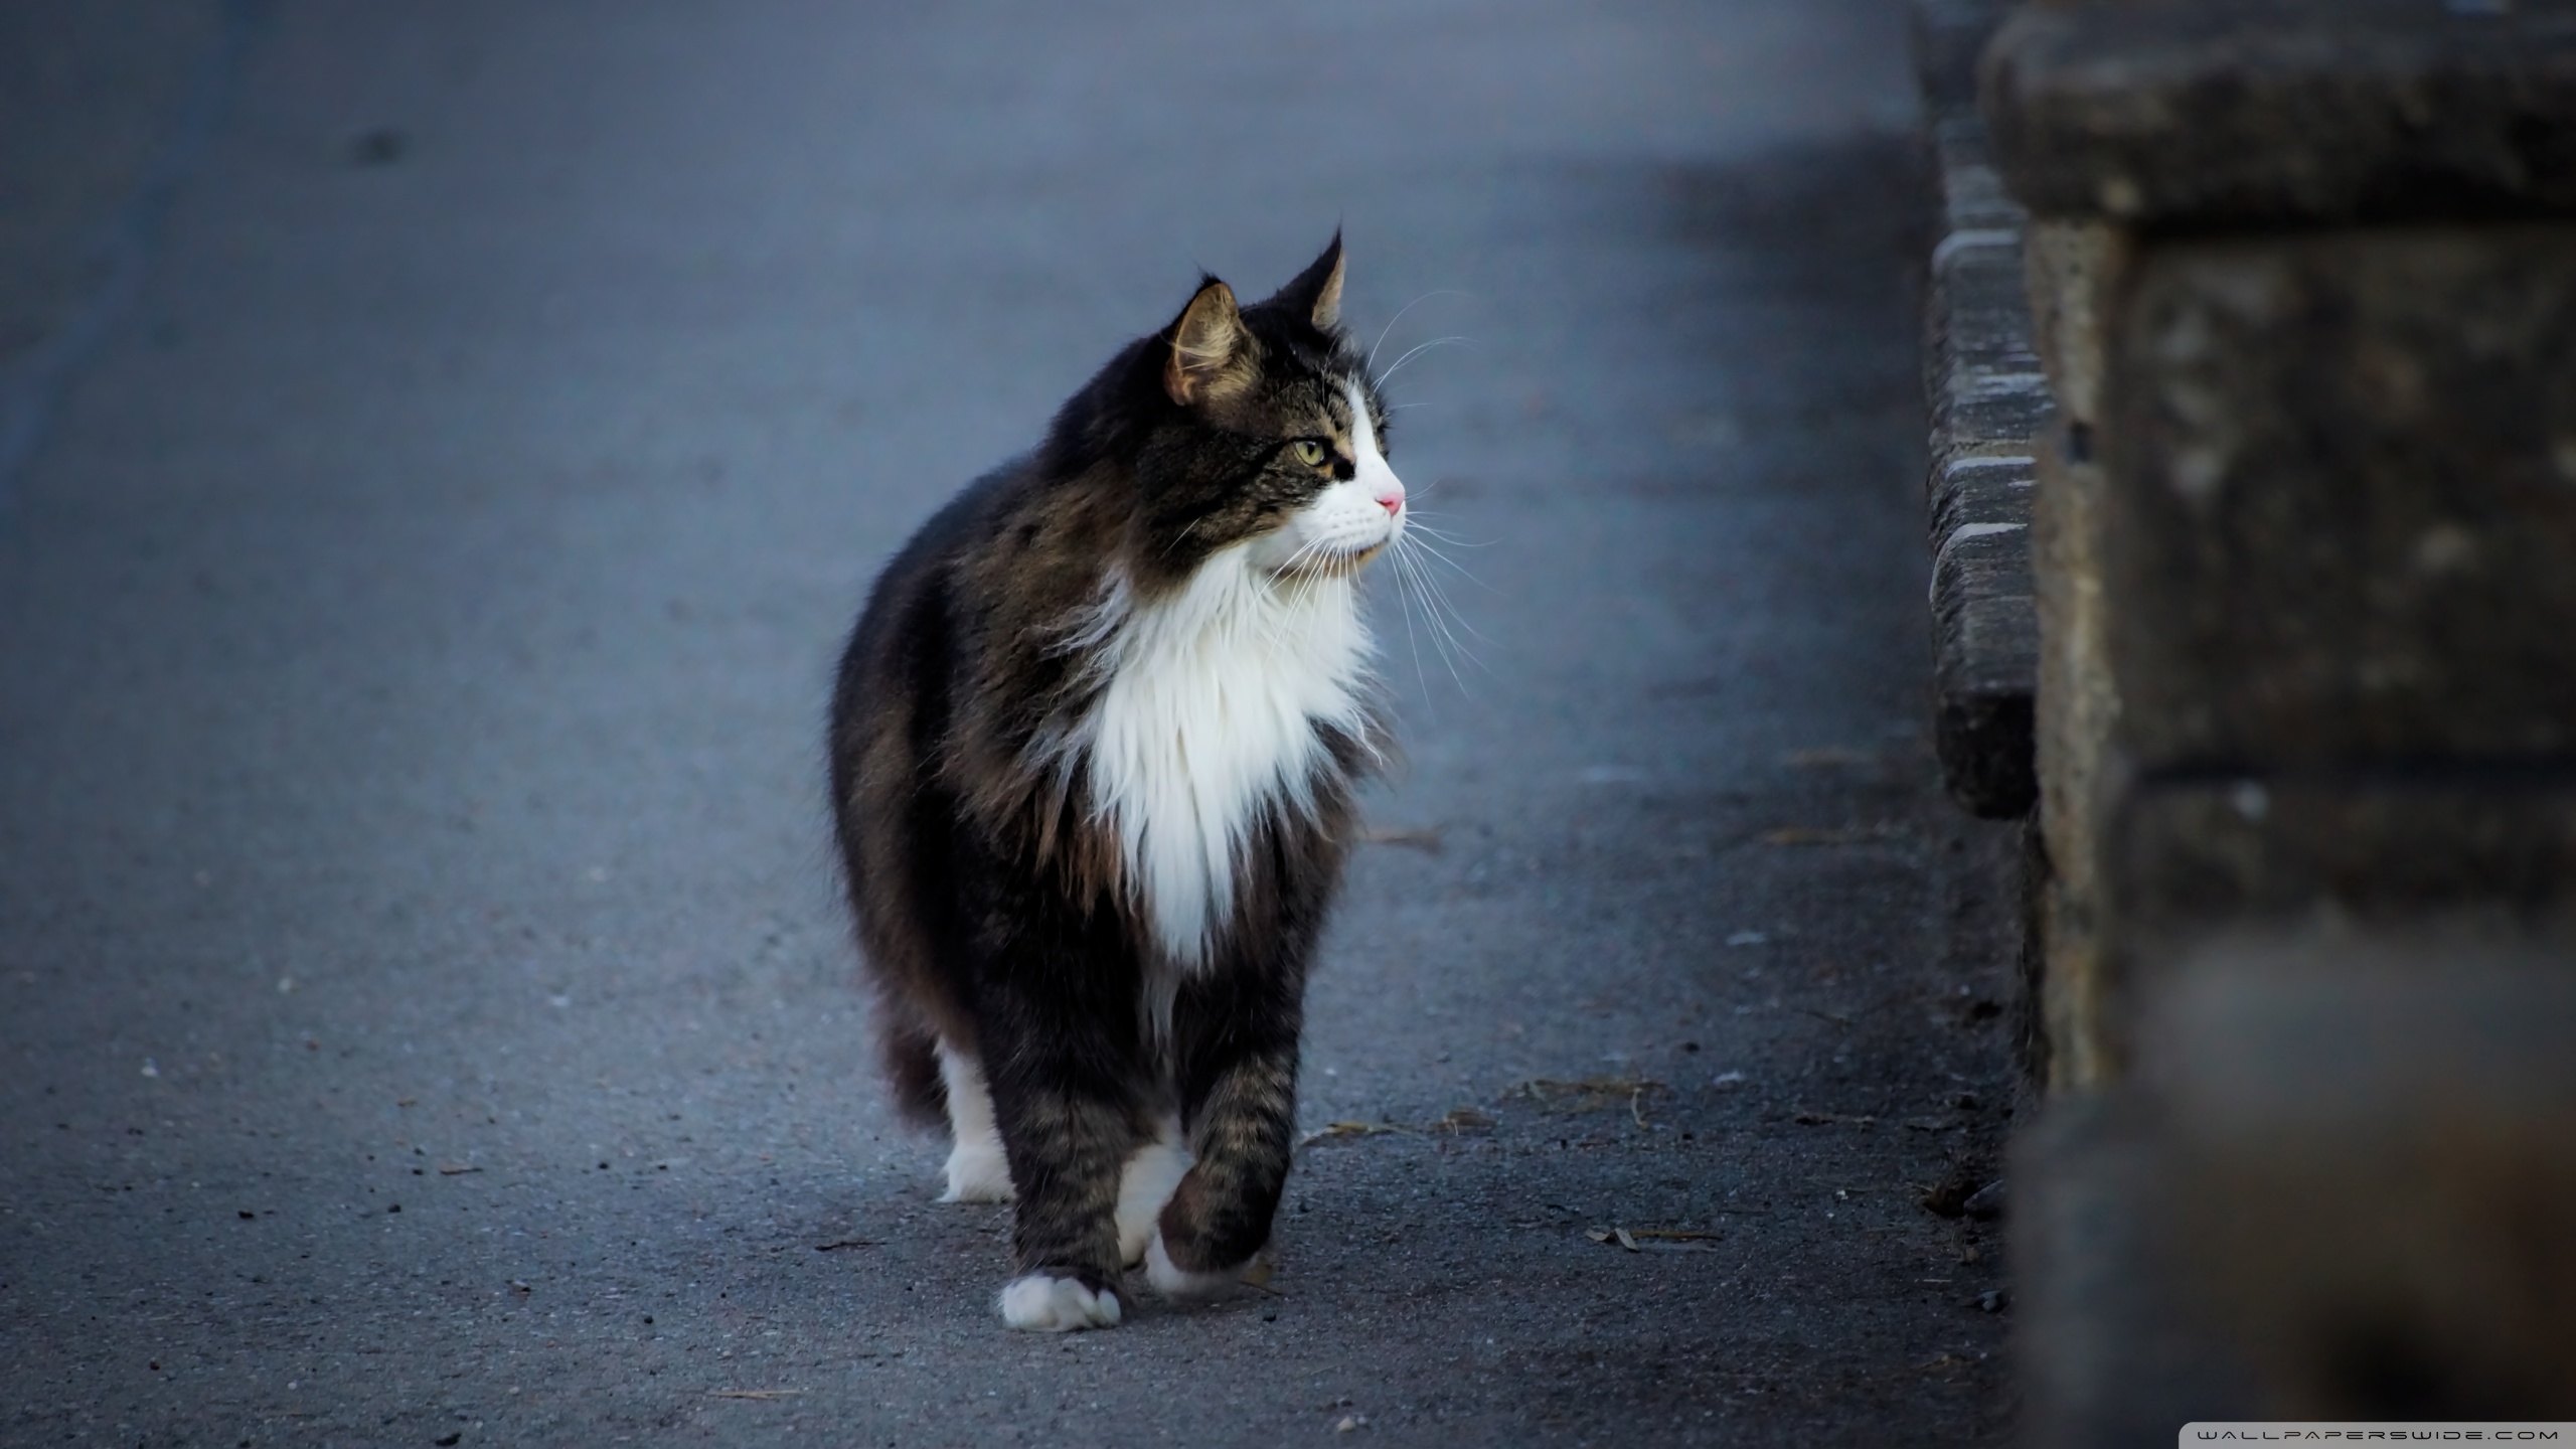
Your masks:
M 2576 214 L 2576 0 L 2030 5 L 1981 103 L 2040 217 Z

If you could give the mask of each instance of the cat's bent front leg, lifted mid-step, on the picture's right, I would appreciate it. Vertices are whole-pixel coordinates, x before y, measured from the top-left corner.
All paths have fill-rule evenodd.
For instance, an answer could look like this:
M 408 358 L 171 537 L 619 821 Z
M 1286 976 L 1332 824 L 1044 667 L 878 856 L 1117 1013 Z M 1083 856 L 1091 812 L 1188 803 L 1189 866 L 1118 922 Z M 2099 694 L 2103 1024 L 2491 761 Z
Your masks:
M 1182 1173 L 1146 1248 L 1146 1279 L 1164 1297 L 1236 1292 L 1242 1269 L 1270 1243 L 1296 1155 L 1296 1003 L 1267 1003 L 1182 1049 L 1182 1109 L 1198 1163 Z

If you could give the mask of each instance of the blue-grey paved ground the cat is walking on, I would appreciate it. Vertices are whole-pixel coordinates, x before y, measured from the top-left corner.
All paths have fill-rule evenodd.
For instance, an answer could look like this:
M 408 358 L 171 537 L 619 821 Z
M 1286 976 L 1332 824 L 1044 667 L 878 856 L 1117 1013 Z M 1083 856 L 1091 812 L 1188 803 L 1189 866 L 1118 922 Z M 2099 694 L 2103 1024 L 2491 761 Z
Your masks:
M 1893 0 L 113 5 L 0 116 L 0 1441 L 2002 1439 Z M 1337 222 L 1381 358 L 1468 338 L 1394 459 L 1481 663 L 1383 593 L 1311 1011 L 1396 1129 L 1275 1297 L 1010 1336 L 868 1080 L 827 665 Z

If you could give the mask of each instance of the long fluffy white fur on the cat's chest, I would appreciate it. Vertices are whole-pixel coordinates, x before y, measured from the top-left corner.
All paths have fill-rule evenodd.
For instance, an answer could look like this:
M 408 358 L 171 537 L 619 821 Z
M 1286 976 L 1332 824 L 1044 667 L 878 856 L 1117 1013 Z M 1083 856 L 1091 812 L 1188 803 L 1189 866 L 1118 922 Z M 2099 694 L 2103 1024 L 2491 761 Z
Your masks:
M 1234 547 L 1151 603 L 1123 588 L 1095 637 L 1108 686 L 1082 727 L 1092 810 L 1118 830 L 1162 951 L 1208 959 L 1234 910 L 1234 859 L 1262 810 L 1311 810 L 1316 722 L 1365 740 L 1358 583 L 1273 578 Z

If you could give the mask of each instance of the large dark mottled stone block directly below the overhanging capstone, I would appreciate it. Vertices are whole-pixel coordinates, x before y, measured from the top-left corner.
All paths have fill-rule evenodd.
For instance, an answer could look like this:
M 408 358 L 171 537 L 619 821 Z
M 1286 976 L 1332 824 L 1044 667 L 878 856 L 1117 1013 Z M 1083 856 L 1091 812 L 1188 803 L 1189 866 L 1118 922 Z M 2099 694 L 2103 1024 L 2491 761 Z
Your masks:
M 2138 768 L 2576 758 L 2576 227 L 2143 248 L 2102 407 Z

